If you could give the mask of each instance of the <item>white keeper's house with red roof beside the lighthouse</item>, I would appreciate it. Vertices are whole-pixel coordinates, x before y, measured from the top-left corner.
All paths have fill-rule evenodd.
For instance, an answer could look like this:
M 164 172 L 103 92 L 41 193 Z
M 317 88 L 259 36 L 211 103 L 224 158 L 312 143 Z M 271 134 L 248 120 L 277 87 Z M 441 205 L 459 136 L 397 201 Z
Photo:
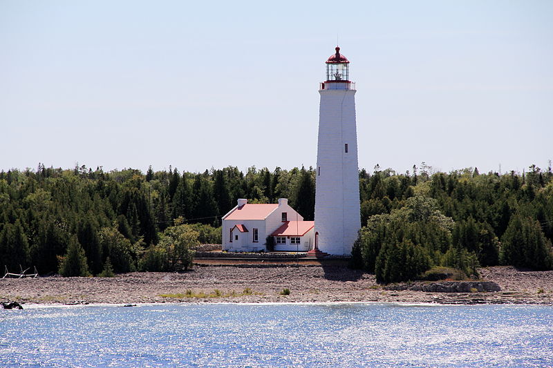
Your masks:
M 280 198 L 275 204 L 238 204 L 223 216 L 223 251 L 267 250 L 272 237 L 275 251 L 308 251 L 315 241 L 315 222 L 303 217 Z

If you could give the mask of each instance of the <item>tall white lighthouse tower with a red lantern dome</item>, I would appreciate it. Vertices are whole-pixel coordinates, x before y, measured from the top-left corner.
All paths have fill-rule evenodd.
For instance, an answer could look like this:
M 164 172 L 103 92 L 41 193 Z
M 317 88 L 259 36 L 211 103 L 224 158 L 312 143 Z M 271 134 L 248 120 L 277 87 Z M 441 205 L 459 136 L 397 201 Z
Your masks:
M 326 61 L 319 94 L 315 189 L 315 249 L 350 255 L 361 229 L 355 123 L 355 83 L 340 48 Z

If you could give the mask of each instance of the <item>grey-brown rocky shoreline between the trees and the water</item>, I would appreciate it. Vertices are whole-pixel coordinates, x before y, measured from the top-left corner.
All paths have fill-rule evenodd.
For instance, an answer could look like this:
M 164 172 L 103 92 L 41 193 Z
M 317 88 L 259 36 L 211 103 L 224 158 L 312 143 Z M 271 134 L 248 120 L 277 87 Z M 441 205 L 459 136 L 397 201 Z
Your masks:
M 552 304 L 553 271 L 480 269 L 482 280 L 380 285 L 341 266 L 196 266 L 185 273 L 125 273 L 115 278 L 0 280 L 0 301 L 21 304 L 152 302 L 404 302 Z M 484 286 L 485 285 L 485 286 Z M 497 289 L 498 288 L 498 289 Z M 285 289 L 290 292 L 288 295 Z M 485 291 L 488 290 L 488 291 Z

